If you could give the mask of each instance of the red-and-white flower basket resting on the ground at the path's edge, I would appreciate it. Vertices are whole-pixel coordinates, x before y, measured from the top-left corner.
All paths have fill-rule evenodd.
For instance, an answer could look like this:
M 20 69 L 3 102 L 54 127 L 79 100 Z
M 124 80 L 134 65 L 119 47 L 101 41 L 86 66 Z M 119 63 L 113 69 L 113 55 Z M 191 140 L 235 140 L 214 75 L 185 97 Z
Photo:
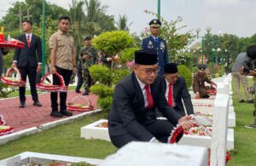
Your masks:
M 80 99 L 80 100 L 79 100 Z M 90 112 L 93 110 L 93 106 L 91 106 L 90 99 L 84 96 L 76 96 L 68 103 L 67 111 L 70 112 Z

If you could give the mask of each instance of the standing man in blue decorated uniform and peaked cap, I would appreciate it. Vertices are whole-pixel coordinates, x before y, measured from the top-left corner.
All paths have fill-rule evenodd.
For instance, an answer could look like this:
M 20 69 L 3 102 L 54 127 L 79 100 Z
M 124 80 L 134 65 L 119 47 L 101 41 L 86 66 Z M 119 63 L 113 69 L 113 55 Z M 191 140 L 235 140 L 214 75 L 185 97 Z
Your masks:
M 157 53 L 159 75 L 164 75 L 164 66 L 168 63 L 168 51 L 166 41 L 158 37 L 162 23 L 154 19 L 149 22 L 151 36 L 143 39 L 143 49 L 153 49 Z

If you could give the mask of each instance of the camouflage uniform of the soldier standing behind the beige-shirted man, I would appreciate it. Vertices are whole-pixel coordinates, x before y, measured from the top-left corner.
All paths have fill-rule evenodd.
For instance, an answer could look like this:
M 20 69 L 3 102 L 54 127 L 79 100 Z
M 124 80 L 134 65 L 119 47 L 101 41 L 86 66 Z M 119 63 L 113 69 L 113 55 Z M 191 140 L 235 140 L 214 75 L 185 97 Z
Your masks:
M 84 54 L 88 55 L 87 60 L 82 59 Z M 93 49 L 92 47 L 87 47 L 82 49 L 81 51 L 82 76 L 84 78 L 84 89 L 86 93 L 89 93 L 90 85 L 93 83 L 88 69 L 90 66 L 96 64 L 96 60 L 97 60 L 96 49 Z

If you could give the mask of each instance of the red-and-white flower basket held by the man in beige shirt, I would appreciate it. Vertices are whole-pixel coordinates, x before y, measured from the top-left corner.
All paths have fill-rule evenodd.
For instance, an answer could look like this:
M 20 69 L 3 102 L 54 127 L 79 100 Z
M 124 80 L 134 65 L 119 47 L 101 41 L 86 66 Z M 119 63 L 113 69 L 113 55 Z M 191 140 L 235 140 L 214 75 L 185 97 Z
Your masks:
M 49 79 L 49 76 L 52 74 L 49 72 L 44 77 L 42 77 L 41 82 L 37 83 L 37 89 L 49 91 L 49 92 L 66 92 L 68 90 L 68 87 L 65 85 L 63 77 L 58 73 L 54 73 L 60 80 L 60 85 L 54 85 L 52 83 L 52 79 Z

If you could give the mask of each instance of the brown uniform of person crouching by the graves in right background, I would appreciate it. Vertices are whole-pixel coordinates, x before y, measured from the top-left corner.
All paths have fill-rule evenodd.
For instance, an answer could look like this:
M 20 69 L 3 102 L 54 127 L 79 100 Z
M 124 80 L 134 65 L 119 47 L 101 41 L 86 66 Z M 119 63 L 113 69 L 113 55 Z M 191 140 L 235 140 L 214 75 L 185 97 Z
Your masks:
M 194 93 L 199 92 L 200 98 L 208 98 L 209 95 L 207 90 L 209 87 L 205 86 L 205 82 L 212 83 L 212 81 L 207 77 L 206 72 L 196 72 L 193 81 L 193 91 Z

